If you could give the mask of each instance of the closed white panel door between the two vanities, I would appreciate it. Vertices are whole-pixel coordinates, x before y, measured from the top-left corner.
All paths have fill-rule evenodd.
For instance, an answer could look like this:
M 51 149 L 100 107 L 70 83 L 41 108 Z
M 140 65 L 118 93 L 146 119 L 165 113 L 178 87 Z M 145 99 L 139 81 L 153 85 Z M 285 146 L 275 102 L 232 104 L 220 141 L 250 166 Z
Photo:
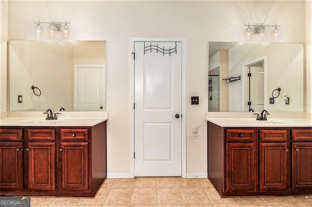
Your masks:
M 135 176 L 181 176 L 181 54 L 181 42 L 135 42 Z

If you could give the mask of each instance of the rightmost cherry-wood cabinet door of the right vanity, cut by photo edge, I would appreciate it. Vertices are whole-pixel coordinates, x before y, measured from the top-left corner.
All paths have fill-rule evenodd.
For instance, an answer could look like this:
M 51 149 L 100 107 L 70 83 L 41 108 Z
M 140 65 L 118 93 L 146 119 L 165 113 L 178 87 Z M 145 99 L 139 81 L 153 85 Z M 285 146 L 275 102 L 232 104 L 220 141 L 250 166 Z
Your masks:
M 312 143 L 292 143 L 292 188 L 312 188 Z

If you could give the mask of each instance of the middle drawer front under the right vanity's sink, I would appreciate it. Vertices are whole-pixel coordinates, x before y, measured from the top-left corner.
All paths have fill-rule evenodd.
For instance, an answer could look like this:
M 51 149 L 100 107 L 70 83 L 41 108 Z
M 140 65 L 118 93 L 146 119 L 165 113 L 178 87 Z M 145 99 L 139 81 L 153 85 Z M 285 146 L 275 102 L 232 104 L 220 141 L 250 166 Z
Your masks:
M 261 142 L 286 142 L 286 130 L 260 130 Z

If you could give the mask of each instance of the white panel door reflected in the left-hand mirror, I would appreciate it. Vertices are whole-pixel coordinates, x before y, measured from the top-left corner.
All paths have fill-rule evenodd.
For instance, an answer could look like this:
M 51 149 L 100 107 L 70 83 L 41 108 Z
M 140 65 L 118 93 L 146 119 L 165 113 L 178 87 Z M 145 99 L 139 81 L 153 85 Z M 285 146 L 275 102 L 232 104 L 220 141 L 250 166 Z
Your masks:
M 103 65 L 75 65 L 75 111 L 105 111 Z

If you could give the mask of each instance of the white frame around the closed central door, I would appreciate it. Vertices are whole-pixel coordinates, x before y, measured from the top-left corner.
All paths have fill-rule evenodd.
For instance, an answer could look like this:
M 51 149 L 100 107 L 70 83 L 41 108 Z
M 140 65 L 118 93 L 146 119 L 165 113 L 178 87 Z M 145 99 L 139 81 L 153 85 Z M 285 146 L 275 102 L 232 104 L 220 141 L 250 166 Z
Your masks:
M 186 98 L 185 98 L 185 56 L 186 56 L 186 38 L 130 38 L 130 177 L 135 177 L 135 61 L 134 61 L 134 44 L 135 42 L 181 42 L 182 49 L 182 77 L 181 77 L 181 172 L 182 177 L 186 177 Z

